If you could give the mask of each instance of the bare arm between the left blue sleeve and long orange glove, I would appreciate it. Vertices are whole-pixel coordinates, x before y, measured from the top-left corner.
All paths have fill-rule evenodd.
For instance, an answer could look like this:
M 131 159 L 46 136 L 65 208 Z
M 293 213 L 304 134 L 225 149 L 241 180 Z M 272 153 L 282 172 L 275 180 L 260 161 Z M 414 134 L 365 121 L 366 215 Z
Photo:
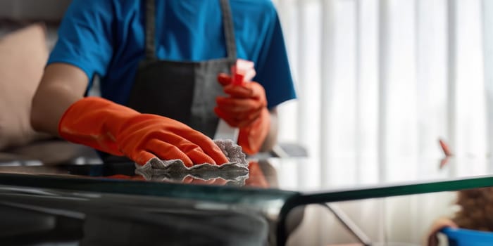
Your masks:
M 58 136 L 58 122 L 65 110 L 84 96 L 88 81 L 85 73 L 72 65 L 46 67 L 32 99 L 32 128 Z

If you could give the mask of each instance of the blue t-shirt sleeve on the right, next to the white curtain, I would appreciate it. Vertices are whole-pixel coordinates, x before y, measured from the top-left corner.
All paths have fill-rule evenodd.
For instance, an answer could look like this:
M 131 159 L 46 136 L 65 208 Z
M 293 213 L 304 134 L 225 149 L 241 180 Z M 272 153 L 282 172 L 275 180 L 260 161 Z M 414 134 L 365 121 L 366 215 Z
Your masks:
M 268 108 L 296 98 L 285 41 L 274 7 L 268 34 L 258 56 L 256 72 L 254 80 L 266 89 Z

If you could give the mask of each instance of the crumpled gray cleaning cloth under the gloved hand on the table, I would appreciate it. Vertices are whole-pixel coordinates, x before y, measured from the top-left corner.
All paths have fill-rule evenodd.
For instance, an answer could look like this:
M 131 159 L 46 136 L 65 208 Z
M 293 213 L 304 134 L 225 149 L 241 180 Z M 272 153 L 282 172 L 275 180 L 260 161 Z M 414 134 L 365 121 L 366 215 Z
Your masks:
M 194 179 L 210 180 L 224 179 L 230 185 L 244 185 L 248 178 L 248 162 L 246 155 L 242 153 L 242 147 L 233 141 L 226 139 L 214 140 L 226 155 L 229 162 L 216 164 L 196 164 L 186 167 L 180 159 L 159 160 L 152 158 L 144 165 L 135 164 L 135 174 L 144 176 L 144 179 L 151 181 L 183 181 L 187 176 Z

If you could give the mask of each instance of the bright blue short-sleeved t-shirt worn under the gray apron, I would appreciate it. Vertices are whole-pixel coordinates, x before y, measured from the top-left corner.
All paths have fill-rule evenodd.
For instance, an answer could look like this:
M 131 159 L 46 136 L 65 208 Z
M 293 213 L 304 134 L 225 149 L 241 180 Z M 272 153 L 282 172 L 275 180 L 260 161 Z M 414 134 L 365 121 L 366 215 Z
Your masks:
M 252 60 L 268 107 L 296 97 L 277 12 L 270 0 L 230 0 L 238 58 Z M 48 64 L 80 67 L 101 96 L 125 105 L 144 59 L 145 1 L 74 0 Z M 220 1 L 156 0 L 156 56 L 200 61 L 226 54 Z

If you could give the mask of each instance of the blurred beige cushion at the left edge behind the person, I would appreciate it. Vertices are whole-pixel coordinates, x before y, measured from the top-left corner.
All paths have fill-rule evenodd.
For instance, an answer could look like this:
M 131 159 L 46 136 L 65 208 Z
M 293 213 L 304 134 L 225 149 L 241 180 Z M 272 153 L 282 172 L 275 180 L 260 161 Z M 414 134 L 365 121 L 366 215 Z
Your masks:
M 47 59 L 46 30 L 42 24 L 30 25 L 0 39 L 0 150 L 44 136 L 32 129 L 30 110 Z

